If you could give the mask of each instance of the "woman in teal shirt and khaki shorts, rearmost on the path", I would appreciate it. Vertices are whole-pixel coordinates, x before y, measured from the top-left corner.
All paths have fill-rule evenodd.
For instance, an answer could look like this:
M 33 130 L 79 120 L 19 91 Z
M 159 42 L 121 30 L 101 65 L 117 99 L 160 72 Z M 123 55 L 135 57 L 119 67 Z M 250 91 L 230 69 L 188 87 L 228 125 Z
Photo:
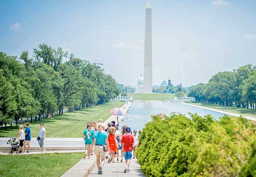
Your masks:
M 102 129 L 103 124 L 97 124 L 98 131 L 95 133 L 93 145 L 95 145 L 96 163 L 98 167 L 98 174 L 102 174 L 102 167 L 104 166 L 106 152 L 109 150 L 108 134 Z

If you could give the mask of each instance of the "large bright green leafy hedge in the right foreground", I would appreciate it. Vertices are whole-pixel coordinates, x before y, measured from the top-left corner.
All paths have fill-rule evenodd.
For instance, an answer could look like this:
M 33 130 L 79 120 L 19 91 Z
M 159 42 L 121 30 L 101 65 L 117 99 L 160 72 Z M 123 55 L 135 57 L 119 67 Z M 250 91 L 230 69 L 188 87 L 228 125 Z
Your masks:
M 256 123 L 172 114 L 140 132 L 137 159 L 147 176 L 256 176 Z

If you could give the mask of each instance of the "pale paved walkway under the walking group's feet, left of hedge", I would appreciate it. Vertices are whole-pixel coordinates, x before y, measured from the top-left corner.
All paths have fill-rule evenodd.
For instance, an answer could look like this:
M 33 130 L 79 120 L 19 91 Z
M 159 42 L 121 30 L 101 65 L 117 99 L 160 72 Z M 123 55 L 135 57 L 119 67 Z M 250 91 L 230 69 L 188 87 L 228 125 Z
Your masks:
M 130 162 L 130 172 L 124 173 L 124 168 L 126 167 L 126 163 L 117 162 L 115 159 L 115 163 L 105 160 L 104 167 L 102 168 L 102 176 L 104 177 L 145 177 L 145 175 L 141 172 L 139 168 L 139 164 L 136 159 L 132 159 Z M 93 170 L 89 173 L 88 177 L 96 177 L 98 175 L 98 168 L 95 165 Z

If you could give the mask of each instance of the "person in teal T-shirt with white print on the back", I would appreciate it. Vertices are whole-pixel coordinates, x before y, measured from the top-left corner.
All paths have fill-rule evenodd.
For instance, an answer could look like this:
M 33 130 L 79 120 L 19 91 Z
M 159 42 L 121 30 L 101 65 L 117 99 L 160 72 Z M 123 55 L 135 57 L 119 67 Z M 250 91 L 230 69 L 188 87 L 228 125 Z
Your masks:
M 85 140 L 85 155 L 83 159 L 85 159 L 86 155 L 88 154 L 88 159 L 91 159 L 91 148 L 93 147 L 93 138 L 95 134 L 94 131 L 91 129 L 91 124 L 87 124 L 87 128 L 83 131 L 83 139 Z

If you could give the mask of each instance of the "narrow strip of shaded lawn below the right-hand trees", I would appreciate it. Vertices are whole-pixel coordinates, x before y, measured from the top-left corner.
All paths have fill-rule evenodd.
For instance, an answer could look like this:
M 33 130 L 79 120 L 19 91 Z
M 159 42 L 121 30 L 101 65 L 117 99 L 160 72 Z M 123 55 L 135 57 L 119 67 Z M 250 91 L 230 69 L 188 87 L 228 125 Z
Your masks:
M 221 105 L 215 105 L 211 103 L 189 103 L 197 106 L 203 106 L 208 107 L 211 109 L 217 109 L 221 111 L 227 111 L 232 112 L 235 114 L 241 114 L 243 116 L 250 116 L 256 118 L 256 110 L 255 109 L 246 109 L 246 108 L 238 108 L 238 107 L 230 107 L 230 106 L 221 106 Z

